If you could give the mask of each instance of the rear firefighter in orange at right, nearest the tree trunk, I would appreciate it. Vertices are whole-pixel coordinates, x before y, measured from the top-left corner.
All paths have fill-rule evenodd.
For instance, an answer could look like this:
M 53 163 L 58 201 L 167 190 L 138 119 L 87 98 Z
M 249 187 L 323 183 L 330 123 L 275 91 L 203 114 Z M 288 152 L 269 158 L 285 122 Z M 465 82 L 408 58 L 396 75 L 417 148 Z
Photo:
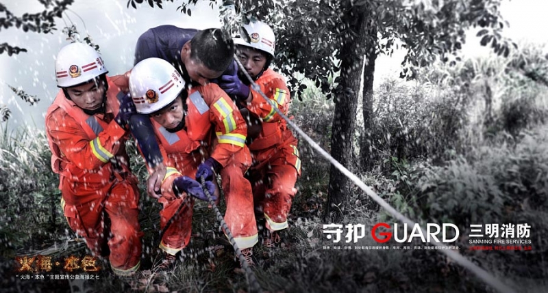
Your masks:
M 242 72 L 239 78 L 236 72 L 221 76 L 219 86 L 246 107 L 240 110 L 242 113 L 247 110 L 251 120 L 262 121 L 260 135 L 249 144 L 253 166 L 247 178 L 253 186 L 256 210 L 266 220 L 263 245 L 273 248 L 280 241 L 279 231 L 288 227 L 287 216 L 297 193 L 295 182 L 301 174 L 301 160 L 297 139 L 272 107 L 274 104 L 286 114 L 290 103 L 284 77 L 269 68 L 274 57 L 274 32 L 269 25 L 256 21 L 243 25 L 240 33 L 242 37 L 234 39 L 236 55 L 270 102 L 250 90 Z

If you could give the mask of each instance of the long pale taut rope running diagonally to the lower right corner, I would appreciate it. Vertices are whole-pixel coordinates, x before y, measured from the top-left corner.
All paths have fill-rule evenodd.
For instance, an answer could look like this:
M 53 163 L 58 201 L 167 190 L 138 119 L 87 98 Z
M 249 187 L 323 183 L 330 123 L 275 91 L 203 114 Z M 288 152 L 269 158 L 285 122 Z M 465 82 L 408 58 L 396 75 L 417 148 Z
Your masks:
M 236 60 L 236 63 L 238 63 L 239 68 L 244 68 L 242 66 L 241 62 L 240 62 L 240 59 L 238 59 L 238 57 L 236 55 L 234 55 L 234 59 Z M 322 156 L 327 158 L 327 161 L 329 161 L 329 163 L 332 163 L 339 171 L 341 171 L 343 174 L 345 174 L 345 176 L 347 176 L 350 180 L 352 180 L 352 182 L 354 182 L 356 185 L 358 185 L 358 187 L 360 187 L 360 189 L 365 191 L 366 195 L 369 195 L 369 197 L 371 197 L 377 204 L 379 204 L 379 206 L 382 206 L 382 208 L 384 208 L 387 212 L 389 212 L 393 217 L 395 217 L 396 219 L 398 219 L 402 223 L 407 223 L 408 225 L 415 225 L 416 224 L 414 221 L 408 219 L 408 217 L 403 216 L 403 214 L 401 214 L 397 210 L 395 210 L 395 208 L 390 206 L 390 204 L 388 204 L 386 201 L 384 201 L 384 199 L 379 197 L 379 195 L 377 195 L 377 193 L 375 193 L 375 191 L 371 190 L 371 188 L 369 186 L 367 186 L 364 182 L 362 182 L 362 180 L 360 180 L 360 178 L 358 178 L 358 176 L 354 175 L 351 171 L 349 171 L 347 168 L 345 168 L 345 166 L 338 163 L 338 161 L 336 161 L 335 158 L 333 158 L 329 153 L 327 153 L 325 150 L 323 150 L 323 148 L 321 148 L 321 146 L 318 145 L 318 143 L 316 143 L 313 139 L 311 139 L 308 135 L 306 135 L 306 133 L 303 132 L 303 130 L 301 130 L 301 128 L 299 128 L 299 126 L 297 126 L 295 123 L 293 123 L 291 120 L 289 120 L 289 118 L 286 115 L 284 115 L 284 113 L 282 113 L 282 111 L 279 111 L 279 109 L 274 104 L 274 102 L 272 102 L 261 91 L 259 85 L 257 85 L 253 81 L 253 79 L 251 79 L 251 76 L 249 76 L 249 74 L 247 73 L 246 70 L 240 70 L 240 71 L 243 72 L 243 74 L 245 74 L 245 76 L 247 77 L 247 79 L 251 83 L 251 86 L 252 86 L 253 90 L 255 92 L 258 92 L 262 96 L 262 98 L 264 98 L 264 100 L 266 100 L 266 102 L 269 102 L 271 107 L 276 111 L 276 113 L 278 113 L 278 115 L 280 117 L 284 118 L 284 120 L 286 120 L 286 122 L 295 131 L 297 131 L 299 133 L 299 135 L 301 135 L 301 137 L 303 137 L 308 143 L 310 143 L 312 148 L 314 148 L 315 150 L 320 152 L 320 154 L 322 154 Z M 419 227 L 421 228 L 421 232 L 423 233 L 423 235 L 425 235 L 426 234 L 425 229 L 423 229 L 423 227 L 421 227 L 421 226 L 419 226 Z M 436 239 L 434 238 L 434 240 L 436 240 Z M 510 288 L 510 286 L 504 285 L 504 283 L 502 281 L 500 281 L 499 279 L 493 277 L 493 275 L 488 273 L 483 268 L 480 268 L 479 266 L 477 266 L 473 262 L 469 261 L 468 259 L 466 259 L 462 255 L 460 255 L 460 253 L 448 249 L 447 245 L 443 244 L 442 242 L 439 242 L 439 241 L 436 240 L 436 241 L 434 241 L 434 245 L 436 245 L 436 247 L 445 248 L 445 249 L 436 249 L 436 251 L 440 251 L 442 253 L 445 253 L 448 257 L 450 257 L 456 263 L 458 263 L 461 266 L 463 266 L 464 268 L 470 270 L 472 273 L 477 275 L 477 277 L 479 277 L 479 279 L 484 281 L 484 283 L 486 283 L 486 284 L 490 285 L 491 287 L 495 288 L 497 291 L 499 291 L 501 293 L 514 293 L 514 292 L 516 292 L 516 291 L 514 291 L 514 289 Z

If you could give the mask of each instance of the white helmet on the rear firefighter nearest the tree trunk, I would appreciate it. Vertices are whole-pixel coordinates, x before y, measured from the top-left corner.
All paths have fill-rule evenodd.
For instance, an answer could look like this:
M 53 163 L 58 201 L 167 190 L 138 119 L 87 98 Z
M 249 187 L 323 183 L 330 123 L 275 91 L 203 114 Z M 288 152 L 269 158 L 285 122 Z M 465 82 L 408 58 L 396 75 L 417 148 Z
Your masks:
M 274 49 L 276 47 L 276 37 L 274 31 L 262 21 L 250 22 L 247 25 L 243 25 L 240 29 L 240 34 L 247 36 L 240 36 L 240 38 L 234 38 L 234 44 L 240 44 L 256 48 L 260 51 L 269 53 L 274 57 Z M 243 38 L 242 38 L 243 37 Z M 249 40 L 249 42 L 247 42 Z

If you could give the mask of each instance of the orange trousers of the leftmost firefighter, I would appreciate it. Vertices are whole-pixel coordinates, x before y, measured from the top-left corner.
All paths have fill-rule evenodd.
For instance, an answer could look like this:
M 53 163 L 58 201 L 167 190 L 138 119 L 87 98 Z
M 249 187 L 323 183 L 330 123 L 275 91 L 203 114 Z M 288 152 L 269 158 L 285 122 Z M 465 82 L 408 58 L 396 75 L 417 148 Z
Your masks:
M 86 239 L 92 253 L 108 255 L 104 247 L 110 234 L 108 258 L 114 273 L 131 275 L 136 272 L 140 266 L 142 237 L 138 222 L 139 191 L 136 179 L 86 184 L 64 178 L 61 192 L 63 197 L 73 199 L 73 204 L 62 200 L 66 221 L 71 229 Z M 110 218 L 110 231 L 108 227 L 105 229 L 105 213 Z

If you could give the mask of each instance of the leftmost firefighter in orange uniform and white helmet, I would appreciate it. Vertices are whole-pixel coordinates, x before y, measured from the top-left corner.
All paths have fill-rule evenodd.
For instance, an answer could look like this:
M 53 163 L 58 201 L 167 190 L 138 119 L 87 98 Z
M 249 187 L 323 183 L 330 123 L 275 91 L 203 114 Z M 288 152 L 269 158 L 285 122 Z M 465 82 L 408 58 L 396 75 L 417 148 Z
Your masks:
M 142 237 L 137 180 L 125 152 L 126 114 L 131 112 L 126 107 L 132 102 L 107 72 L 90 46 L 64 46 L 55 61 L 61 90 L 45 120 L 69 226 L 94 255 L 108 258 L 116 275 L 127 276 L 140 266 Z

